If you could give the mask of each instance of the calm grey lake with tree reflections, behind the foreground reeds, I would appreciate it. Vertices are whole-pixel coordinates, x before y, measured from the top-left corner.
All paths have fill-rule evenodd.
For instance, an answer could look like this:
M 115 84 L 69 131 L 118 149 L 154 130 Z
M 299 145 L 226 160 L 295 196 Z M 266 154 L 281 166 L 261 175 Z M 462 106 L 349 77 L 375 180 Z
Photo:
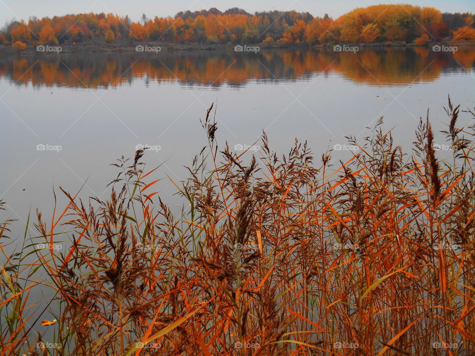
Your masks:
M 83 199 L 105 199 L 118 174 L 109 164 L 144 146 L 147 169 L 160 166 L 160 195 L 176 207 L 167 175 L 188 177 L 184 166 L 207 144 L 199 119 L 211 103 L 221 147 L 227 141 L 259 156 L 264 130 L 280 154 L 298 138 L 316 159 L 336 148 L 338 165 L 353 154 L 345 136 L 364 143 L 381 116 L 395 141 L 409 145 L 428 108 L 443 130 L 447 95 L 473 109 L 474 93 L 473 47 L 2 56 L 0 218 L 17 220 L 10 236 L 18 237 L 29 211 L 50 216 L 53 189 L 62 210 L 59 186 L 75 193 L 84 185 Z

